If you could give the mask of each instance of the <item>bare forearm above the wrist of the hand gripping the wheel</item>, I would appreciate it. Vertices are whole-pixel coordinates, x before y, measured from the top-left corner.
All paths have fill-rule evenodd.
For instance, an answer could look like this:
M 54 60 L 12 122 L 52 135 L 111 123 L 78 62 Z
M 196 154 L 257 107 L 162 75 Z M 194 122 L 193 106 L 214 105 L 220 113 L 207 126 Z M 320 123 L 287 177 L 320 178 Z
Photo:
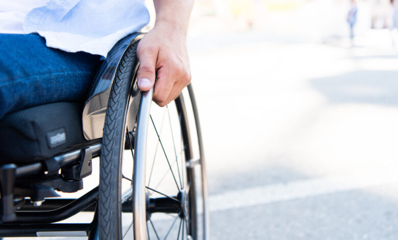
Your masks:
M 193 0 L 154 0 L 155 27 L 162 26 L 186 36 Z

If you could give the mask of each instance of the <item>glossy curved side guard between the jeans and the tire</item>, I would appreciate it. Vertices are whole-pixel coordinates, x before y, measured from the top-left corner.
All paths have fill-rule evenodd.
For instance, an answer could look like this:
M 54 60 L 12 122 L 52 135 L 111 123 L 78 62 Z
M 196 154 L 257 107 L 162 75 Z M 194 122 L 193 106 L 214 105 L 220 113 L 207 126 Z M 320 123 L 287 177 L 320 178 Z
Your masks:
M 112 47 L 102 63 L 83 109 L 83 135 L 87 140 L 102 137 L 109 93 L 116 76 L 117 66 L 130 45 L 143 36 L 143 33 L 133 33 L 122 38 Z M 137 69 L 138 64 L 135 72 Z

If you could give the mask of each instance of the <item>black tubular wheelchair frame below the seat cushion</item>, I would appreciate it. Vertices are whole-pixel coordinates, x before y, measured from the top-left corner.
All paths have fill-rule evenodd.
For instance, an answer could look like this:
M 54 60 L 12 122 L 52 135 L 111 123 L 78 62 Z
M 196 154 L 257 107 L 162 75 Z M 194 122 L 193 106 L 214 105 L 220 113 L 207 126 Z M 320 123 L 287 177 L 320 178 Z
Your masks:
M 96 144 L 86 149 L 55 156 L 52 160 L 57 162 L 60 167 L 81 160 L 83 160 L 81 162 L 91 165 L 92 157 L 98 156 L 100 149 L 101 144 Z M 74 200 L 46 199 L 44 202 L 41 202 L 42 200 L 33 202 L 36 206 L 32 206 L 27 199 L 22 199 L 15 206 L 19 207 L 19 209 L 14 211 L 14 201 L 12 198 L 14 186 L 12 183 L 18 178 L 38 176 L 44 174 L 46 171 L 47 167 L 44 163 L 40 162 L 20 167 L 17 167 L 15 164 L 6 164 L 0 167 L 1 193 L 4 196 L 1 199 L 3 211 L 1 215 L 0 236 L 89 236 L 89 239 L 93 239 L 93 232 L 95 232 L 97 225 L 96 213 L 94 213 L 94 219 L 91 223 L 53 223 L 70 218 L 81 211 L 96 212 L 94 204 L 98 198 L 97 187 Z M 81 183 L 81 180 L 78 182 Z M 68 182 L 64 181 L 62 184 L 67 185 Z M 60 186 L 59 180 L 58 186 Z M 10 200 L 8 196 L 11 197 L 12 201 L 7 201 Z M 49 232 L 52 234 L 48 234 Z

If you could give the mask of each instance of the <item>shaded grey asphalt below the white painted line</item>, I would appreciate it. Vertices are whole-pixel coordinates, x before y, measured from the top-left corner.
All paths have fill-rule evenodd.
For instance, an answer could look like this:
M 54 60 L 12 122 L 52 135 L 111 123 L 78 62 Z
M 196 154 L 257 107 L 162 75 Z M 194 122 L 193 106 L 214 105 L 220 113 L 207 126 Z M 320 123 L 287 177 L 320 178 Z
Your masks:
M 398 239 L 396 202 L 362 189 L 212 212 L 210 217 L 212 239 Z

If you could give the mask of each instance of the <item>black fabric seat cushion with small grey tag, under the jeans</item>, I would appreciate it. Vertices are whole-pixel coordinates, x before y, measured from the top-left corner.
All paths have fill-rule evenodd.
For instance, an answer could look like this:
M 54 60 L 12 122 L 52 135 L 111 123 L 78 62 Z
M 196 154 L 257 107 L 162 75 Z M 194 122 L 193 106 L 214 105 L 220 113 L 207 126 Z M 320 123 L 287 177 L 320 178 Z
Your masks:
M 92 143 L 83 137 L 82 108 L 51 103 L 7 114 L 0 121 L 0 163 L 47 159 Z

